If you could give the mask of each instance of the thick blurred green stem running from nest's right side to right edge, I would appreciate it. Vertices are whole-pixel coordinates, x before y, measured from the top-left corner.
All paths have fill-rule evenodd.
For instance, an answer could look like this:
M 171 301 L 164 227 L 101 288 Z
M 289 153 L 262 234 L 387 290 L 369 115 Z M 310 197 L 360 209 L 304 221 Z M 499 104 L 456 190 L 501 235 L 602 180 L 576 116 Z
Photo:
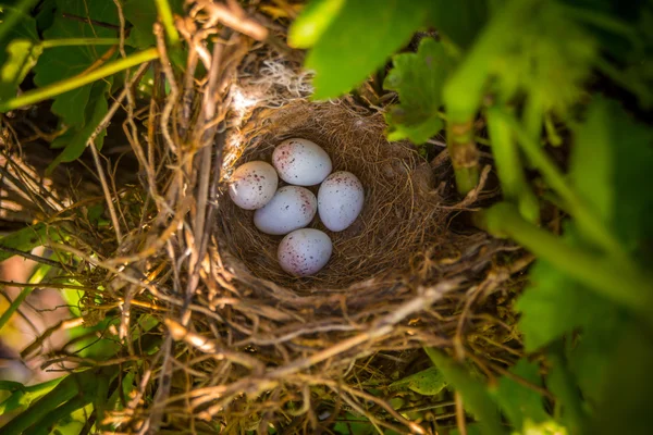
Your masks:
M 495 236 L 507 236 L 596 293 L 653 321 L 653 282 L 634 268 L 606 256 L 572 247 L 525 221 L 514 206 L 502 202 L 475 215 L 477 224 Z

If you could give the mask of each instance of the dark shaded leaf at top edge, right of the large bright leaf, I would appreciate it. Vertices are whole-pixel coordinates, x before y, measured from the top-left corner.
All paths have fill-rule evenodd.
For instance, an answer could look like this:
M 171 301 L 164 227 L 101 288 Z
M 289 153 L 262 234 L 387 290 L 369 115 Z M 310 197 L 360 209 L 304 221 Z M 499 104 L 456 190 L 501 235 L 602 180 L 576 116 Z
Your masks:
M 433 26 L 461 48 L 468 48 L 488 20 L 488 0 L 433 0 L 430 9 Z

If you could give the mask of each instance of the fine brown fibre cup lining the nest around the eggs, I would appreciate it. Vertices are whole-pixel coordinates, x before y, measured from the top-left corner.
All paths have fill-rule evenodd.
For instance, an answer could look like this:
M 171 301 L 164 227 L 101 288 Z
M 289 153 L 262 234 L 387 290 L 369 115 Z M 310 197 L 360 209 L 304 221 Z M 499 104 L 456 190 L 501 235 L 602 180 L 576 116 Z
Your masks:
M 333 161 L 333 171 L 354 173 L 366 191 L 362 212 L 345 231 L 326 229 L 318 216 L 309 225 L 331 237 L 333 256 L 318 274 L 304 278 L 293 277 L 279 266 L 276 248 L 283 236 L 261 233 L 254 225 L 252 212 L 221 201 L 221 248 L 254 276 L 297 290 L 352 290 L 361 283 L 369 286 L 370 281 L 384 286 L 440 243 L 445 214 L 439 207 L 432 169 L 410 144 L 385 139 L 381 114 L 342 100 L 296 101 L 261 111 L 246 124 L 251 125 L 241 128 L 248 132 L 241 138 L 246 146 L 226 150 L 227 154 L 239 153 L 229 160 L 232 167 L 252 160 L 270 162 L 282 140 L 301 137 L 323 147 Z M 317 194 L 318 186 L 309 189 Z

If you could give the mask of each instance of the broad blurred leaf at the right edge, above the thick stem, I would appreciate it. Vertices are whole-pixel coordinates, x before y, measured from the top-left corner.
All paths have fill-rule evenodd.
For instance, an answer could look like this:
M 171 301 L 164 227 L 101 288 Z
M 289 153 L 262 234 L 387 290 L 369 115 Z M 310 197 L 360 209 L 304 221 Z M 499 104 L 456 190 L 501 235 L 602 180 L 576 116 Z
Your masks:
M 569 175 L 575 189 L 634 253 L 653 258 L 653 129 L 638 124 L 618 103 L 597 97 L 575 135 Z

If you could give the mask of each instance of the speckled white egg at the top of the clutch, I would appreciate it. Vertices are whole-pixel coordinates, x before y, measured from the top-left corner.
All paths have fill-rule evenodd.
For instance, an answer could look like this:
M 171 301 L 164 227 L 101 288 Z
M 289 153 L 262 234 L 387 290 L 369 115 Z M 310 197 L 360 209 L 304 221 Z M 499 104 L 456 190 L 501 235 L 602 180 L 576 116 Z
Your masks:
M 293 138 L 281 142 L 272 153 L 272 164 L 281 179 L 297 186 L 315 186 L 331 173 L 326 151 L 310 140 Z

